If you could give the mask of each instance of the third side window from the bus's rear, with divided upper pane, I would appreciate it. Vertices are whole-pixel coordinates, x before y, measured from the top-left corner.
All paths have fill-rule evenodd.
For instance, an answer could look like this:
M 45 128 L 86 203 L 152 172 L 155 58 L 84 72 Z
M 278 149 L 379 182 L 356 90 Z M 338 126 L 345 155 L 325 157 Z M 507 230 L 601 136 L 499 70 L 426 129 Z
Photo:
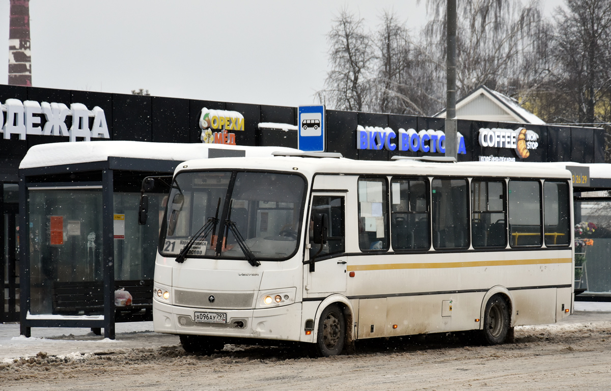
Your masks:
M 473 247 L 507 246 L 504 182 L 471 181 L 471 240 Z

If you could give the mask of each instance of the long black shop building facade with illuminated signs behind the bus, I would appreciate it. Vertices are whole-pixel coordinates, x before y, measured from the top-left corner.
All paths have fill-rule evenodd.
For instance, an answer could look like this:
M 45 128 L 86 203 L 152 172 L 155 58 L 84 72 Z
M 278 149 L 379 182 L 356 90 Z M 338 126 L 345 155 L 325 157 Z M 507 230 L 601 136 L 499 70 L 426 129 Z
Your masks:
M 20 240 L 18 235 L 20 224 L 26 221 L 21 219 L 20 223 L 18 167 L 33 145 L 80 142 L 90 138 L 92 141 L 179 144 L 202 143 L 204 139 L 238 146 L 298 147 L 298 108 L 294 107 L 5 85 L 0 85 L 0 103 L 0 207 L 4 213 L 4 229 L 0 233 L 4 243 L 0 321 L 20 320 L 20 272 L 27 271 L 27 267 L 20 265 L 19 247 L 29 244 L 25 236 Z M 221 123 L 214 126 L 213 120 L 214 129 L 208 129 L 210 133 L 205 134 L 202 132 L 204 108 L 210 118 L 216 117 L 217 121 L 222 118 L 221 121 L 231 125 L 222 129 Z M 327 110 L 325 118 L 326 152 L 338 152 L 346 158 L 360 160 L 389 160 L 395 155 L 443 156 L 439 151 L 441 143 L 436 144 L 436 152 L 431 150 L 431 136 L 434 139 L 441 137 L 443 119 L 335 110 Z M 527 157 L 522 157 L 516 147 L 522 128 L 526 130 L 525 140 L 532 143 Z M 459 161 L 604 163 L 604 130 L 598 128 L 459 120 L 458 131 L 464 142 L 462 150 L 459 147 Z M 365 134 L 366 147 L 362 138 Z M 413 134 L 418 136 L 412 137 Z M 412 137 L 409 138 L 413 141 L 411 147 L 401 144 L 401 137 Z M 125 169 L 142 172 L 142 175 L 171 174 L 173 167 L 175 165 L 168 164 L 167 170 L 145 166 Z M 49 167 L 48 174 L 57 175 L 57 167 Z M 39 169 L 36 175 L 44 177 L 45 172 Z M 102 183 L 102 177 L 100 171 L 96 181 Z M 21 198 L 24 203 L 25 194 Z M 97 324 L 83 325 L 97 327 Z

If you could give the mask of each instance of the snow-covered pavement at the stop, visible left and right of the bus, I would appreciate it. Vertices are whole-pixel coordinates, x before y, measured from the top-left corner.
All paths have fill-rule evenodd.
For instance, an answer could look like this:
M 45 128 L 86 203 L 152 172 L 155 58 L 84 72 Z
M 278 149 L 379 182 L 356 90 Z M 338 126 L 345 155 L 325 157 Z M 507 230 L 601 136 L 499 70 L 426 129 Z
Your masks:
M 577 330 L 599 321 L 611 321 L 611 302 L 575 302 L 575 312 L 557 324 L 522 326 L 525 331 Z M 58 357 L 78 357 L 113 349 L 159 348 L 178 345 L 175 335 L 153 332 L 153 322 L 117 323 L 115 340 L 95 335 L 87 328 L 33 327 L 32 337 L 20 335 L 19 324 L 0 324 L 0 364 L 40 352 Z M 80 352 L 80 353 L 79 353 Z

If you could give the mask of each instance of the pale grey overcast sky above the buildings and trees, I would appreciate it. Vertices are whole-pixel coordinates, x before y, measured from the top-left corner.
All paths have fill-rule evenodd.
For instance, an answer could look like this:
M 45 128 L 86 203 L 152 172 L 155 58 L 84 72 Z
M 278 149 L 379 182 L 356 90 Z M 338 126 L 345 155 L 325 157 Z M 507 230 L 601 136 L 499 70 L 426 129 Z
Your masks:
M 30 0 L 32 84 L 310 104 L 329 70 L 326 34 L 342 7 L 365 18 L 372 30 L 392 9 L 415 32 L 425 23 L 425 1 Z M 546 15 L 562 2 L 542 1 Z M 4 0 L 1 83 L 7 83 L 8 39 Z

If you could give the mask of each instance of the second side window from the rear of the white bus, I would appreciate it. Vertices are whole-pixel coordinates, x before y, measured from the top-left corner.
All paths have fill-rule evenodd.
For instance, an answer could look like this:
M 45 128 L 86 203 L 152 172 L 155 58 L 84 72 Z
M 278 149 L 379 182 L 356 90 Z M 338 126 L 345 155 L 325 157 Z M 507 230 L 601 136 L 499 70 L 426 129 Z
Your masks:
M 541 246 L 541 182 L 510 180 L 507 198 L 511 246 Z

